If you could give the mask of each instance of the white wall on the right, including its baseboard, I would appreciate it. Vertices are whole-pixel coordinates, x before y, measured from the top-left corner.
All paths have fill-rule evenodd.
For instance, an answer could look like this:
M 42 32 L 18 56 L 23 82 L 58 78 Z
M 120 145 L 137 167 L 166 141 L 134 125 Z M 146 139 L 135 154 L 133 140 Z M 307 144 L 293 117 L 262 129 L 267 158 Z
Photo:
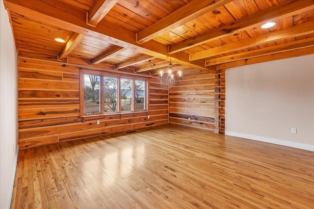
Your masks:
M 314 151 L 314 54 L 227 69 L 226 134 Z

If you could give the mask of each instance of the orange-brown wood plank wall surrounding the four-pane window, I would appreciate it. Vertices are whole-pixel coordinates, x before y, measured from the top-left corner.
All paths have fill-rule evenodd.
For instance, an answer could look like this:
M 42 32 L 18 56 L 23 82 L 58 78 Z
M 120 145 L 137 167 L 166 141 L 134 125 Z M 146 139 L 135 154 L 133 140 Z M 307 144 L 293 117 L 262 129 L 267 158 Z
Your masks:
M 148 84 L 149 112 L 80 117 L 78 67 L 18 57 L 20 149 L 169 122 L 168 87 L 154 78 Z

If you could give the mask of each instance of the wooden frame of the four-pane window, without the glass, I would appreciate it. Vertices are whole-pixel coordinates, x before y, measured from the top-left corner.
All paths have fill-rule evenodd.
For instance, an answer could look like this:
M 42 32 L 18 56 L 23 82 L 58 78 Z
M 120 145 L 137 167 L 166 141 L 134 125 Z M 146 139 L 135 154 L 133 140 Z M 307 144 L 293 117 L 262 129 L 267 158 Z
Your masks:
M 85 75 L 92 75 L 92 76 L 100 76 L 100 108 L 101 112 L 99 113 L 91 113 L 86 114 L 85 112 L 85 101 L 84 101 L 84 76 Z M 105 85 L 104 85 L 104 78 L 117 78 L 117 111 L 116 112 L 105 112 Z M 121 111 L 121 79 L 131 79 L 132 80 L 132 108 L 131 111 Z M 136 100 L 135 100 L 135 84 L 136 80 L 144 81 L 144 109 L 143 110 L 136 110 Z M 148 93 L 148 78 L 140 77 L 140 76 L 131 76 L 121 73 L 110 73 L 105 71 L 98 71 L 98 70 L 89 70 L 89 69 L 79 69 L 79 115 L 80 117 L 90 117 L 90 116 L 106 116 L 106 115 L 114 115 L 114 114 L 126 114 L 126 113 L 137 113 L 137 112 L 148 112 L 148 101 L 149 101 L 149 93 Z

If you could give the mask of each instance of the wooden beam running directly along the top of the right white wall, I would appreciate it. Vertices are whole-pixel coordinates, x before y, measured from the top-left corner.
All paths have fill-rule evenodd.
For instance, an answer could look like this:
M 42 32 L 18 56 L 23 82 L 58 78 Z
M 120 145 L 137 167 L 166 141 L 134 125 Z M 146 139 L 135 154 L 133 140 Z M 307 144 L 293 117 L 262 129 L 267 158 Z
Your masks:
M 254 57 L 250 59 L 242 59 L 235 62 L 224 63 L 224 64 L 217 65 L 217 68 L 219 70 L 224 70 L 224 69 L 234 68 L 234 67 L 243 66 L 243 65 L 251 65 L 251 64 L 256 64 L 256 63 L 261 63 L 261 62 L 268 62 L 272 60 L 309 55 L 309 54 L 313 54 L 313 52 L 314 52 L 314 47 L 308 47 L 308 48 L 299 49 L 299 50 L 292 50 L 288 52 L 269 54 L 265 56 L 259 56 L 259 57 Z

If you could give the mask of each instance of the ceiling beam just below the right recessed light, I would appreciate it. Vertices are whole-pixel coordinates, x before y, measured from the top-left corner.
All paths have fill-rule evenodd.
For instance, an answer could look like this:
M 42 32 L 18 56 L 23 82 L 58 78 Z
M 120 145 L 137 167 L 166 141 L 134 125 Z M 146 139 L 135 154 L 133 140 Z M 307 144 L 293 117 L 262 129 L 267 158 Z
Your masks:
M 203 59 L 203 58 L 215 56 L 218 54 L 234 52 L 234 51 L 242 50 L 249 47 L 255 47 L 261 44 L 266 44 L 272 41 L 288 39 L 294 36 L 306 35 L 309 33 L 314 33 L 314 21 L 284 28 L 281 30 L 276 30 L 270 33 L 266 33 L 266 34 L 262 34 L 262 35 L 255 36 L 252 38 L 233 42 L 233 43 L 226 44 L 220 47 L 215 47 L 209 50 L 196 52 L 196 53 L 190 54 L 190 60 Z

